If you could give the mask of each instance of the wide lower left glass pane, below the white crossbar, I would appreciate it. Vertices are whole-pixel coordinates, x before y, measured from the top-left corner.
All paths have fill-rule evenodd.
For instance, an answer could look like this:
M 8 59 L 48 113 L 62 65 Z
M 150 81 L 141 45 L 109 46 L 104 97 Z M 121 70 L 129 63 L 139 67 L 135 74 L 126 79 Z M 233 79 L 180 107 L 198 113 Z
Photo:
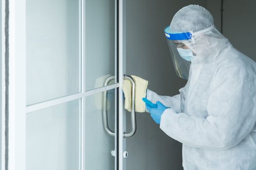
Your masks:
M 26 116 L 26 170 L 79 170 L 79 100 Z

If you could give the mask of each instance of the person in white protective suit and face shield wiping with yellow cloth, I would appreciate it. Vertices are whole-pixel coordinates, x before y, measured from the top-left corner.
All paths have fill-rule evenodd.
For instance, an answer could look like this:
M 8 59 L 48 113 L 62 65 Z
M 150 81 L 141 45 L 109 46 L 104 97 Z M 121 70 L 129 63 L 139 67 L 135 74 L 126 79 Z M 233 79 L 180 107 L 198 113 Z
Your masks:
M 188 82 L 176 96 L 159 96 L 133 76 L 136 111 L 149 111 L 162 131 L 183 144 L 184 170 L 256 170 L 256 63 L 198 5 L 180 9 L 165 35 L 176 73 Z M 125 81 L 128 110 L 129 88 Z

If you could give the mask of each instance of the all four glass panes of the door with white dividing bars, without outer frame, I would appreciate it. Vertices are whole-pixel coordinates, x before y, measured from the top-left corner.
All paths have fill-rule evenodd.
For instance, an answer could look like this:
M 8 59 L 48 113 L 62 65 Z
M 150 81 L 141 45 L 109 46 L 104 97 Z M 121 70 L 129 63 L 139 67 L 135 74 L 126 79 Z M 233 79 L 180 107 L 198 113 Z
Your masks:
M 26 170 L 114 170 L 115 0 L 26 0 Z M 111 151 L 112 154 L 111 154 Z M 113 154 L 114 155 L 114 154 Z

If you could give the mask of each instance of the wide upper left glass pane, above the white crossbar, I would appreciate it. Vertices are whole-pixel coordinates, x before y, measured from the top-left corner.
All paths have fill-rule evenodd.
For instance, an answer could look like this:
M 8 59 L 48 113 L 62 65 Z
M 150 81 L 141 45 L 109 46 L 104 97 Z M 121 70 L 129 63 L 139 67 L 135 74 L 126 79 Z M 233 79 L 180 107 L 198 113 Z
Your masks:
M 79 0 L 26 1 L 27 105 L 79 92 Z

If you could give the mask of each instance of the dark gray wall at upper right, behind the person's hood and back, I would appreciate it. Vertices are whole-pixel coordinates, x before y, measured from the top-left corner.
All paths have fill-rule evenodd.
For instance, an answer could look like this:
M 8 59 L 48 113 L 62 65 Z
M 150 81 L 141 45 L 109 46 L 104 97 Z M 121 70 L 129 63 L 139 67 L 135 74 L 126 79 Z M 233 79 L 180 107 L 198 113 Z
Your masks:
M 213 14 L 215 25 L 220 30 L 220 2 L 208 0 L 208 10 Z M 224 0 L 223 35 L 233 46 L 256 61 L 256 0 Z

